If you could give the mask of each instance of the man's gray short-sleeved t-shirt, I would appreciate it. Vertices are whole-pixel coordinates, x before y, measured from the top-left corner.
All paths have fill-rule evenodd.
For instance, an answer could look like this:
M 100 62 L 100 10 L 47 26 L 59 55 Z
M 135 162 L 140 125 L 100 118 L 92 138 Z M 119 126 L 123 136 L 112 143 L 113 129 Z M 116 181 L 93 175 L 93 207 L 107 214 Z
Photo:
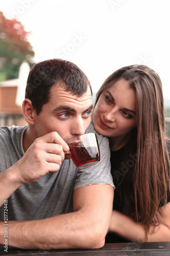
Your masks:
M 4 126 L 0 129 L 0 172 L 16 163 L 24 154 L 22 136 L 27 126 Z M 91 123 L 86 133 L 96 131 Z M 8 198 L 8 220 L 38 220 L 73 211 L 74 189 L 92 184 L 113 185 L 110 172 L 110 150 L 106 137 L 96 133 L 101 153 L 98 164 L 78 169 L 72 160 L 64 160 L 56 173 L 48 173 L 38 181 L 22 184 Z M 8 188 L 7 188 L 8 189 Z M 4 206 L 0 207 L 4 221 Z

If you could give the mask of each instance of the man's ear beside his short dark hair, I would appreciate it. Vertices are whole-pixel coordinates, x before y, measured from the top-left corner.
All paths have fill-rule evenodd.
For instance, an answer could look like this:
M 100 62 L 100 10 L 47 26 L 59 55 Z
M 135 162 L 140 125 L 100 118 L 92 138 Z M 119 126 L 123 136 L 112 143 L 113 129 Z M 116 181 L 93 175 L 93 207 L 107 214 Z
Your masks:
M 32 102 L 30 99 L 25 99 L 22 103 L 22 112 L 23 116 L 25 117 L 26 121 L 29 124 L 34 125 L 34 115 L 35 115 L 35 110 L 32 106 Z

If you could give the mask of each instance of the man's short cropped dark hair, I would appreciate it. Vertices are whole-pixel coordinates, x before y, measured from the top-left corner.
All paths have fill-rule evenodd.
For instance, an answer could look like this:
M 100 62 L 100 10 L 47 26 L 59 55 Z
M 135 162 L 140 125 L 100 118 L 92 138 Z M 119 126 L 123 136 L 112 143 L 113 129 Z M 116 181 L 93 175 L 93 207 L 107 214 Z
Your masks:
M 87 76 L 74 63 L 62 59 L 41 61 L 29 73 L 25 95 L 25 98 L 32 101 L 37 115 L 43 104 L 50 99 L 50 90 L 56 83 L 78 97 L 87 92 L 88 86 L 92 94 Z

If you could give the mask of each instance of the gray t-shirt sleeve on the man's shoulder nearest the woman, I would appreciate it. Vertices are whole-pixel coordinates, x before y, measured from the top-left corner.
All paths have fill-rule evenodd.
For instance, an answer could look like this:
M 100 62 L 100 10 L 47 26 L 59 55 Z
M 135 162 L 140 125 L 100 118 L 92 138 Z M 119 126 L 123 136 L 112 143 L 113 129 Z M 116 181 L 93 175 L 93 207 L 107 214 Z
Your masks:
M 100 162 L 91 167 L 78 169 L 74 189 L 92 184 L 110 184 L 114 187 L 110 171 L 109 140 L 98 133 L 96 133 L 96 135 L 100 148 Z

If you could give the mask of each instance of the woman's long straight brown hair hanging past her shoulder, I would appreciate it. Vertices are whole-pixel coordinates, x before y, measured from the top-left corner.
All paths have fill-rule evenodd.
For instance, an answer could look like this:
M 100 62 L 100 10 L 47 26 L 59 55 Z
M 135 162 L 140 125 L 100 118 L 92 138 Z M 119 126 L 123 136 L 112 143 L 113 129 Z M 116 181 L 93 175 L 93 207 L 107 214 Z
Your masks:
M 132 152 L 136 161 L 117 185 L 124 214 L 140 222 L 148 231 L 151 224 L 158 223 L 157 210 L 166 204 L 169 189 L 162 83 L 158 74 L 147 66 L 121 68 L 104 81 L 94 108 L 102 92 L 120 78 L 128 81 L 129 87 L 136 92 L 136 127 L 120 161 L 126 164 Z

